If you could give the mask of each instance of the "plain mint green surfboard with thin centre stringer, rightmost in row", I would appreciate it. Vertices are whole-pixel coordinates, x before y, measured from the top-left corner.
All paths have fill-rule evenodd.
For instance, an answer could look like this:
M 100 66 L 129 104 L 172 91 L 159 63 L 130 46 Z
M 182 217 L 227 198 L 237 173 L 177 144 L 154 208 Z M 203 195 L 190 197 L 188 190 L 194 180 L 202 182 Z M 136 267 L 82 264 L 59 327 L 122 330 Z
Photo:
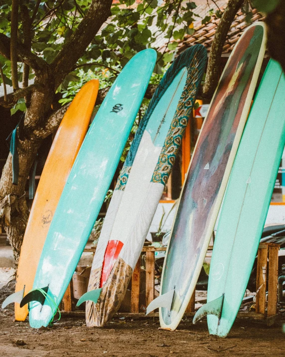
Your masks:
M 270 60 L 256 94 L 225 193 L 211 260 L 207 304 L 211 335 L 236 319 L 265 224 L 285 145 L 285 76 Z

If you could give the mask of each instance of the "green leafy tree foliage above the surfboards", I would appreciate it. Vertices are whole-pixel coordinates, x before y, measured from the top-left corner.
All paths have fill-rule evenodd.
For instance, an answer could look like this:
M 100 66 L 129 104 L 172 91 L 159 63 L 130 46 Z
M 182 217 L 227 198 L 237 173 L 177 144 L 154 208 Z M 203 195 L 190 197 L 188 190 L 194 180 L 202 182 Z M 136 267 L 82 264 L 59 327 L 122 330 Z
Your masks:
M 67 40 L 72 36 L 90 7 L 91 0 L 20 0 L 18 18 L 18 42 L 28 50 L 51 64 Z M 177 40 L 185 33 L 192 34 L 193 21 L 199 18 L 195 14 L 194 1 L 182 0 L 118 0 L 111 6 L 111 14 L 101 30 L 94 36 L 84 54 L 72 70 L 65 76 L 58 91 L 65 91 L 70 81 L 82 81 L 82 73 L 92 69 L 106 83 L 112 83 L 124 65 L 137 52 L 148 47 L 157 47 L 157 37 L 167 43 L 167 52 L 158 51 L 156 73 L 162 73 L 162 67 L 173 59 Z M 209 10 L 210 7 L 209 7 Z M 0 33 L 11 35 L 12 1 L 5 0 L 0 5 Z M 206 16 L 203 21 L 209 21 Z M 174 41 L 170 41 L 170 39 Z M 157 49 L 157 48 L 156 48 Z M 75 49 L 76 50 L 76 49 Z M 11 61 L 0 55 L 4 82 L 12 85 Z M 27 76 L 24 62 L 17 63 L 17 80 L 24 81 Z M 98 70 L 100 67 L 102 70 Z M 105 69 L 105 73 L 104 73 Z M 34 70 L 28 68 L 28 78 L 35 77 Z M 88 77 L 88 75 L 87 75 Z M 101 86 L 102 86 L 101 84 Z M 23 83 L 27 86 L 27 82 Z M 66 102 L 66 101 L 62 101 Z M 22 99 L 15 105 L 16 109 L 25 110 Z

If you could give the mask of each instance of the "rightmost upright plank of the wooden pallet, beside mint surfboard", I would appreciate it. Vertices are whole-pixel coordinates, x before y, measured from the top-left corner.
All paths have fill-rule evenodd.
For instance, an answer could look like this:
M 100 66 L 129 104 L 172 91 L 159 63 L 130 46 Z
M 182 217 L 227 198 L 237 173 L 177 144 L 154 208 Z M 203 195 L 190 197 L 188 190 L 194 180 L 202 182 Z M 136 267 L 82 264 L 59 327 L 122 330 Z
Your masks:
M 269 246 L 267 317 L 274 316 L 277 313 L 278 251 L 279 247 Z

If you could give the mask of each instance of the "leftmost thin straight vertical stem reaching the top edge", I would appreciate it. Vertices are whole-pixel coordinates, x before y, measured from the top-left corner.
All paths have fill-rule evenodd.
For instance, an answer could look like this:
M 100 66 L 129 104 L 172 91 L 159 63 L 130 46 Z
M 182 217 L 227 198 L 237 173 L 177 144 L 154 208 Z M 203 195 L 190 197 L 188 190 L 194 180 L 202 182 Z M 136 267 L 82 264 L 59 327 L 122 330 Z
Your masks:
M 18 12 L 19 12 L 19 0 L 12 0 L 10 60 L 11 60 L 12 85 L 14 91 L 19 89 L 18 68 L 17 68 Z

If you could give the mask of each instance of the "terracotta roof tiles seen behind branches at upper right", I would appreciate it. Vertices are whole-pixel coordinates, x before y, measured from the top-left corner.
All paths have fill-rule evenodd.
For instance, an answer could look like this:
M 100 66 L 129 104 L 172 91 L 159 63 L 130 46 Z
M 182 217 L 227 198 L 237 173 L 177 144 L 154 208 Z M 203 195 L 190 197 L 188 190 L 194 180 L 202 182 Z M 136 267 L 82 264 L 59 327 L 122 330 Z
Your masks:
M 225 6 L 221 8 L 223 11 Z M 252 10 L 252 22 L 262 21 L 264 16 L 257 11 L 257 9 Z M 239 11 L 230 26 L 224 47 L 223 53 L 230 53 L 234 48 L 235 43 L 240 38 L 244 29 L 250 24 L 245 20 L 246 15 Z M 214 39 L 216 32 L 217 24 L 219 23 L 220 18 L 217 18 L 215 14 L 212 15 L 211 20 L 206 24 L 202 24 L 201 21 L 197 22 L 195 25 L 195 32 L 193 35 L 186 35 L 182 41 L 178 44 L 178 53 L 180 53 L 185 48 L 194 45 L 196 43 L 203 44 L 207 51 L 210 51 L 211 44 Z

